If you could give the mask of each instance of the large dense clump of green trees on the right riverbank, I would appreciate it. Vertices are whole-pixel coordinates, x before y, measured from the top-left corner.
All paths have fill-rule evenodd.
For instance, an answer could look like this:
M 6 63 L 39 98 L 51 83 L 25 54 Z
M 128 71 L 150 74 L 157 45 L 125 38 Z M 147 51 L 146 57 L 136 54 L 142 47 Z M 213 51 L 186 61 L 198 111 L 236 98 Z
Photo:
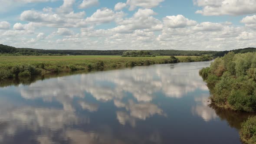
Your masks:
M 215 105 L 235 111 L 256 111 L 256 52 L 229 52 L 199 73 L 213 87 L 210 99 Z

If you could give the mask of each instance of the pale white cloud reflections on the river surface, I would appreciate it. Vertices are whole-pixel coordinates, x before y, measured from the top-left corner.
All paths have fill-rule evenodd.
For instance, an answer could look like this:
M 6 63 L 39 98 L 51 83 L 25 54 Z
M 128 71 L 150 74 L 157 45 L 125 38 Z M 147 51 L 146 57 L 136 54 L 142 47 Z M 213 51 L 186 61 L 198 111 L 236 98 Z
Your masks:
M 208 64 L 209 62 L 204 65 Z M 66 143 L 125 144 L 124 141 L 112 135 L 111 128 L 102 132 L 93 129 L 93 126 L 88 130 L 75 129 L 73 126 L 91 124 L 90 113 L 100 112 L 104 103 L 115 106 L 112 111 L 115 111 L 119 124 L 124 126 L 128 124 L 132 128 L 136 127 L 138 120 L 146 121 L 154 115 L 166 117 L 166 110 L 161 108 L 161 105 L 154 99 L 161 95 L 165 98 L 183 98 L 196 90 L 208 90 L 198 76 L 200 65 L 195 63 L 187 65 L 136 67 L 47 79 L 29 86 L 20 85 L 16 89 L 23 99 L 26 101 L 42 100 L 42 103 L 52 105 L 52 107 L 47 108 L 44 105 L 15 107 L 12 105 L 10 109 L 4 110 L 8 112 L 0 110 L 0 121 L 8 123 L 8 126 L 0 132 L 0 140 L 3 141 L 5 134 L 15 135 L 21 129 L 30 129 L 36 131 L 38 135 L 36 141 L 45 144 L 55 141 L 50 131 L 59 131 L 59 137 L 62 137 Z M 195 99 L 198 105 L 194 108 L 194 112 L 206 121 L 217 117 L 210 111 L 210 108 L 209 112 L 206 111 L 208 108 L 206 105 L 201 105 L 200 101 L 203 100 Z M 54 106 L 53 103 L 56 102 L 61 104 L 62 108 Z M 80 115 L 84 111 L 89 111 L 89 113 Z M 135 136 L 137 132 L 131 133 L 126 137 L 133 135 L 136 140 L 143 139 L 139 134 Z M 159 133 L 155 131 L 146 137 L 151 138 L 141 140 L 142 143 L 161 141 Z

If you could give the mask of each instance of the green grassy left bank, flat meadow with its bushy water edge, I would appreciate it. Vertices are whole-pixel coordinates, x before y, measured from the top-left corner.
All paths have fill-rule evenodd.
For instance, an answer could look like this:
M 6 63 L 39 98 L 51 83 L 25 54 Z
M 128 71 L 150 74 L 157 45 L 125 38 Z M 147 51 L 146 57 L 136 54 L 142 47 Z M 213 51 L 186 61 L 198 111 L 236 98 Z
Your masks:
M 211 59 L 213 58 L 210 56 L 176 56 L 172 58 L 170 56 L 0 56 L 0 79 L 77 70 L 90 71 L 175 62 L 198 62 Z

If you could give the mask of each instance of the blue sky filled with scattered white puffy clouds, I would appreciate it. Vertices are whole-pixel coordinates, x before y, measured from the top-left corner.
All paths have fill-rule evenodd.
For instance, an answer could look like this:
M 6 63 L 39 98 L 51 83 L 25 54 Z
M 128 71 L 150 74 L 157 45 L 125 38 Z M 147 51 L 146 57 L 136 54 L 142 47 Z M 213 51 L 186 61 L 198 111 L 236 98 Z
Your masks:
M 256 0 L 0 0 L 0 44 L 83 50 L 256 47 Z

